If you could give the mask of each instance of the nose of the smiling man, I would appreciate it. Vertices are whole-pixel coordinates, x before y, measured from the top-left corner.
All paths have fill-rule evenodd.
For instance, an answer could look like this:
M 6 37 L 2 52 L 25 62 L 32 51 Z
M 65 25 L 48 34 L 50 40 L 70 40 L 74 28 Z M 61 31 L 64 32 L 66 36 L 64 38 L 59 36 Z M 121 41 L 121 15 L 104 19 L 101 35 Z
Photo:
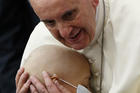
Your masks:
M 72 32 L 71 26 L 59 27 L 59 33 L 60 33 L 61 37 L 63 37 L 63 38 L 69 38 L 71 32 Z

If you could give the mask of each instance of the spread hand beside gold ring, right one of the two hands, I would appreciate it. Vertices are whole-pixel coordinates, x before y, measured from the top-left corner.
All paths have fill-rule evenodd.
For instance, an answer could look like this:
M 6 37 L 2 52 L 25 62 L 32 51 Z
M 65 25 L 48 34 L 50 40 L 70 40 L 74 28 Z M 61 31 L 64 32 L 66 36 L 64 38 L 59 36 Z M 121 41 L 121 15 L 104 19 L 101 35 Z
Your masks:
M 48 73 L 43 72 L 43 78 L 45 81 L 45 86 L 41 84 L 41 82 L 35 76 L 31 76 L 31 93 L 71 93 L 65 87 L 60 85 L 58 81 L 53 82 Z

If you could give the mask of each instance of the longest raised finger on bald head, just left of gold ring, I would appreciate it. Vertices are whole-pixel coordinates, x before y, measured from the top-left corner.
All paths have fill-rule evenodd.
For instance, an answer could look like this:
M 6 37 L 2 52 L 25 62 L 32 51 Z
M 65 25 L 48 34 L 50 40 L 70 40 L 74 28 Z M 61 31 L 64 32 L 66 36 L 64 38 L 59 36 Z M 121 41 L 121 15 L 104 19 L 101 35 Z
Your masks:
M 60 93 L 59 89 L 53 83 L 53 81 L 51 80 L 51 78 L 48 75 L 48 73 L 46 73 L 45 71 L 43 71 L 42 74 L 43 74 L 43 78 L 45 80 L 45 85 L 47 87 L 48 92 L 49 93 Z

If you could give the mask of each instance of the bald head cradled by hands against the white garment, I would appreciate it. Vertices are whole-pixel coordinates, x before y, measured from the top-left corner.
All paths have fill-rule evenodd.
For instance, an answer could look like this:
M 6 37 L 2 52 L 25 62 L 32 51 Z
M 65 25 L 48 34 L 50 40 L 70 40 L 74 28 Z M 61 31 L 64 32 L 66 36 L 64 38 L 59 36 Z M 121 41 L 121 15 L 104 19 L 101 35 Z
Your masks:
M 35 75 L 42 83 L 42 71 L 56 74 L 75 86 L 89 87 L 90 68 L 87 59 L 80 53 L 68 48 L 44 45 L 35 49 L 23 65 L 25 71 Z M 64 87 L 76 93 L 76 89 L 59 81 Z

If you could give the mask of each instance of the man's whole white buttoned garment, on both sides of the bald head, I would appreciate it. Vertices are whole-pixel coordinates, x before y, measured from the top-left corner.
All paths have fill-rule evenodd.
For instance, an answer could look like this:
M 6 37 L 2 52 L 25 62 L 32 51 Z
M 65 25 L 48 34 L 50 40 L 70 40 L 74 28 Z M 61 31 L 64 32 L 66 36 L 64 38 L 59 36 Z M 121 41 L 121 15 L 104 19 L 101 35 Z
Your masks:
M 99 93 L 140 93 L 139 4 L 140 0 L 105 0 L 104 16 L 100 0 L 96 38 L 80 51 L 91 62 L 91 86 Z M 33 49 L 44 44 L 62 45 L 41 22 L 30 36 L 22 64 Z

